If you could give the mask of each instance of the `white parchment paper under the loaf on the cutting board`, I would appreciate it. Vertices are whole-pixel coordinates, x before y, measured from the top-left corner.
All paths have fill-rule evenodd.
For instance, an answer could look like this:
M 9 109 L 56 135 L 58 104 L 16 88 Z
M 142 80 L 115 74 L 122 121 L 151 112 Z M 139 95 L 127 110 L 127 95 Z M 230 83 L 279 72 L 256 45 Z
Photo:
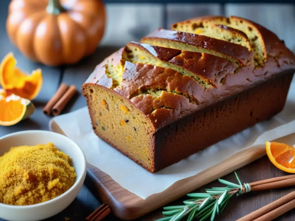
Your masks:
M 258 123 L 155 174 L 99 139 L 92 131 L 86 107 L 53 119 L 81 147 L 88 163 L 98 167 L 128 191 L 146 199 L 178 180 L 194 176 L 230 158 L 236 152 L 295 133 L 295 79 L 284 110 L 271 120 Z

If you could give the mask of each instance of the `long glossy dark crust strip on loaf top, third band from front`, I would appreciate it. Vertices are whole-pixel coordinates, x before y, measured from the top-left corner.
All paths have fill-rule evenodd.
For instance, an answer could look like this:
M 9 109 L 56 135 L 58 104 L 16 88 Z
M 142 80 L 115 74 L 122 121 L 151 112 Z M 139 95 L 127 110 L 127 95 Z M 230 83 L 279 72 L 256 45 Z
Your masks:
M 178 50 L 207 53 L 222 57 L 240 66 L 248 65 L 253 60 L 253 52 L 241 45 L 204 35 L 161 28 L 142 38 L 140 42 Z

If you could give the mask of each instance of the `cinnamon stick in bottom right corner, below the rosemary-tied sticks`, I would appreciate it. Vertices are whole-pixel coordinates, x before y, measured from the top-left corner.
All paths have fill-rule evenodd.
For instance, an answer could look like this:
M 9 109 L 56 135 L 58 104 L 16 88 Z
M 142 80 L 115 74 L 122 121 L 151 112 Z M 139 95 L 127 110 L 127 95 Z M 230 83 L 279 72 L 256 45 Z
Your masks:
M 281 197 L 280 199 L 277 199 L 276 201 L 273 201 L 270 204 L 265 205 L 264 207 L 261 207 L 258 210 L 255 210 L 254 212 L 249 213 L 248 215 L 245 215 L 244 217 L 236 220 L 236 221 L 266 221 L 266 220 L 272 220 L 276 217 L 279 217 L 284 212 L 287 212 L 291 210 L 289 204 L 286 204 L 288 202 L 292 202 L 293 204 L 292 208 L 295 207 L 295 191 Z M 284 208 L 286 206 L 286 208 Z M 273 213 L 273 211 L 276 210 L 276 213 Z M 270 213 L 271 212 L 271 213 Z M 269 214 L 268 214 L 269 213 Z M 267 216 L 264 216 L 265 214 L 268 214 Z M 280 214 L 280 215 L 279 215 Z M 276 216 L 277 215 L 277 216 Z M 260 217 L 268 217 L 265 219 L 260 219 Z

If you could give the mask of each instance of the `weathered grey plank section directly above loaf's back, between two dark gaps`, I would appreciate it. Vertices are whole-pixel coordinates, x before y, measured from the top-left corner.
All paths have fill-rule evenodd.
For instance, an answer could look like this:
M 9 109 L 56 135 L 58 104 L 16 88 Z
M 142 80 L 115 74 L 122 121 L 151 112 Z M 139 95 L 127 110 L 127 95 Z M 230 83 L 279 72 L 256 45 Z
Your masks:
M 170 29 L 171 24 L 186 19 L 204 16 L 222 15 L 220 4 L 167 4 L 167 24 Z

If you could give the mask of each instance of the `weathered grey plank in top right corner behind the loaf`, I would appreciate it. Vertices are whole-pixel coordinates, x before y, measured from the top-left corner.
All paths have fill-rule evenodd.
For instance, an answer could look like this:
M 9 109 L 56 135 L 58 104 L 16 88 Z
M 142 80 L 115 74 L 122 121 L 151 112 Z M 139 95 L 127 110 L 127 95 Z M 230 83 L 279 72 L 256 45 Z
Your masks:
M 294 4 L 226 4 L 225 15 L 244 17 L 263 25 L 295 50 Z

